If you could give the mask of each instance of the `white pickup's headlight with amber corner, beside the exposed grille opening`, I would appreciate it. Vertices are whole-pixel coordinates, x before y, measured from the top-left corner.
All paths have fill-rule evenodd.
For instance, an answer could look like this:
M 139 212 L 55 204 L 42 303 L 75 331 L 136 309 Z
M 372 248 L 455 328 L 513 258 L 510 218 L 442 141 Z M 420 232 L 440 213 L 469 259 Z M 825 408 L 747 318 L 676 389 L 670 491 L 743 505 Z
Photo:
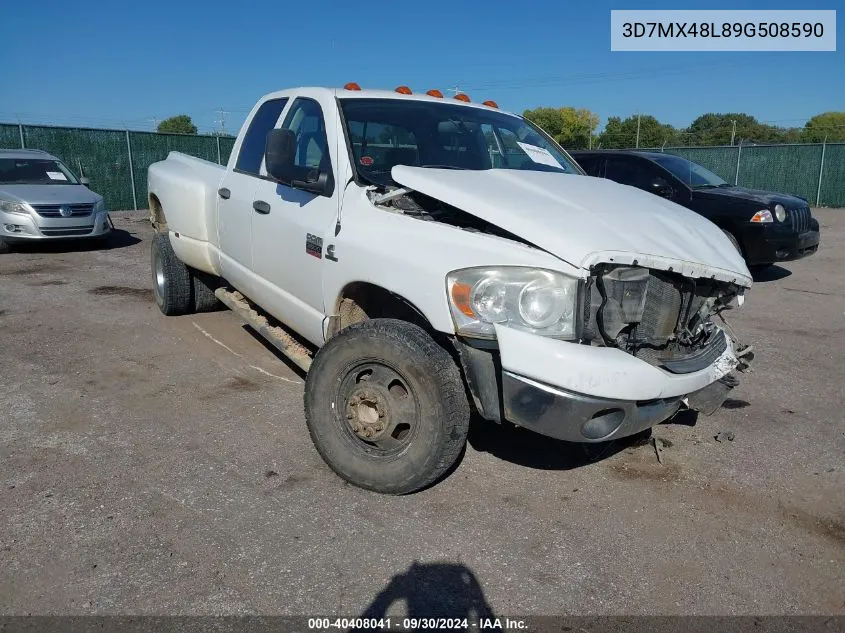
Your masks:
M 449 273 L 449 308 L 459 334 L 495 338 L 495 323 L 577 338 L 579 280 L 539 268 L 465 268 Z

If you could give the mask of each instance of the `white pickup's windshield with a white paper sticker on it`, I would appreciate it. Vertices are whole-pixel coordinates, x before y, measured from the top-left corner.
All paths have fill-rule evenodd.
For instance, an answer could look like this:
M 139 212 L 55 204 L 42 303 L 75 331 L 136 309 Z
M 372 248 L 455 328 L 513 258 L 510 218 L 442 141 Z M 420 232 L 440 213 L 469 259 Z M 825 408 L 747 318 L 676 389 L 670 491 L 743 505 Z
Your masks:
M 396 165 L 581 174 L 546 134 L 510 114 L 448 102 L 341 99 L 355 169 L 390 185 Z

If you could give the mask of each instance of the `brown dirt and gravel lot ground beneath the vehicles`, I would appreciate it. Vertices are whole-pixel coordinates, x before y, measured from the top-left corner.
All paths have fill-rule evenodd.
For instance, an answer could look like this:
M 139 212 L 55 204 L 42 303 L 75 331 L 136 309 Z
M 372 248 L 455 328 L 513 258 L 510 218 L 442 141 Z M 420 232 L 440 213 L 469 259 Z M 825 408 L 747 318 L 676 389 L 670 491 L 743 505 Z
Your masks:
M 0 611 L 845 613 L 845 209 L 815 213 L 821 250 L 731 315 L 756 371 L 657 427 L 662 463 L 475 423 L 401 498 L 323 465 L 303 376 L 234 315 L 159 313 L 144 214 L 0 256 Z

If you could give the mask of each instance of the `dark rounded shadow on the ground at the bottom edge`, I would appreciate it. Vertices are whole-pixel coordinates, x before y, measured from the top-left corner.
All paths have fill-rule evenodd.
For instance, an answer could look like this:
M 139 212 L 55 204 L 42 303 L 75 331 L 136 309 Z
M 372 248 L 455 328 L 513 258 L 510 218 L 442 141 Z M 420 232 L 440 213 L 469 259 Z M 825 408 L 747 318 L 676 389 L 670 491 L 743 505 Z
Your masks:
M 477 625 L 483 618 L 494 620 L 496 617 L 487 603 L 487 598 L 475 574 L 465 565 L 458 563 L 413 562 L 407 571 L 390 579 L 387 586 L 378 593 L 359 617 L 375 620 L 388 617 L 390 607 L 397 602 L 404 604 L 396 605 L 396 608 L 391 611 L 390 617 L 395 622 L 395 624 L 392 623 L 392 628 L 398 627 L 401 619 L 406 617 L 457 618 L 459 620 L 466 618 L 470 626 Z M 393 615 L 396 613 L 402 613 L 402 615 Z M 443 623 L 444 627 L 446 624 Z M 430 631 L 452 631 L 464 627 L 453 625 L 448 628 L 437 626 L 425 628 Z M 351 630 L 362 633 L 383 629 L 354 628 Z M 501 631 L 501 628 L 487 630 Z

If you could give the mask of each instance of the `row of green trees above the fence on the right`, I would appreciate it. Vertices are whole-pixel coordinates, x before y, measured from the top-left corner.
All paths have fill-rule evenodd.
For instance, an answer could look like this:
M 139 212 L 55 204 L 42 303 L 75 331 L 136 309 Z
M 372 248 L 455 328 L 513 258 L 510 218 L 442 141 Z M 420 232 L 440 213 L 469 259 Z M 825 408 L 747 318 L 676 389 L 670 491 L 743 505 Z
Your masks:
M 523 116 L 567 149 L 845 142 L 845 112 L 817 114 L 803 127 L 780 127 L 729 112 L 702 114 L 689 126 L 676 128 L 649 114 L 635 114 L 608 118 L 598 134 L 599 117 L 584 108 L 535 108 Z

